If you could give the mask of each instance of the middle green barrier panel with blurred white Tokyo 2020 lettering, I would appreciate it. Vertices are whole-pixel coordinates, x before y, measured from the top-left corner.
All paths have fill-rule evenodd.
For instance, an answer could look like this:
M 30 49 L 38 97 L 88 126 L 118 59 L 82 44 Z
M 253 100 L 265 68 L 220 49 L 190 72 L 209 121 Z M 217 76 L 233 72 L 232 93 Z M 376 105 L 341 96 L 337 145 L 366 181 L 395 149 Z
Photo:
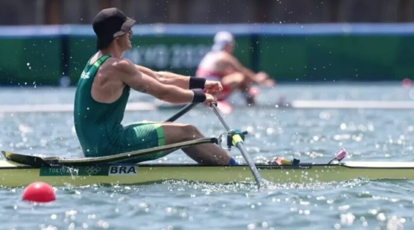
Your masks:
M 211 36 L 133 36 L 132 49 L 125 57 L 133 63 L 154 70 L 166 70 L 194 76 L 198 63 L 212 46 Z M 235 55 L 247 66 L 252 66 L 249 54 L 250 37 L 237 38 Z M 96 52 L 94 37 L 69 38 L 69 76 L 76 82 L 89 58 Z

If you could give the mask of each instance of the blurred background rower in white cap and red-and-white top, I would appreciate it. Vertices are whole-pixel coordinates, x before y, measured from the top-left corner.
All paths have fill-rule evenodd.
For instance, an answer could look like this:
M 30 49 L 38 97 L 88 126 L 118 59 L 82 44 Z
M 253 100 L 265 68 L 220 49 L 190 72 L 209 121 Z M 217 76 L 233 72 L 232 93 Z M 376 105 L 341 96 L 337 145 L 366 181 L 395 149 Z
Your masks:
M 257 91 L 252 87 L 252 83 L 271 87 L 275 81 L 265 72 L 254 73 L 241 65 L 234 57 L 233 51 L 233 35 L 226 31 L 216 33 L 213 48 L 201 60 L 196 76 L 221 82 L 223 91 L 214 94 L 218 100 L 227 99 L 234 90 L 239 89 L 246 96 L 246 102 L 254 104 Z

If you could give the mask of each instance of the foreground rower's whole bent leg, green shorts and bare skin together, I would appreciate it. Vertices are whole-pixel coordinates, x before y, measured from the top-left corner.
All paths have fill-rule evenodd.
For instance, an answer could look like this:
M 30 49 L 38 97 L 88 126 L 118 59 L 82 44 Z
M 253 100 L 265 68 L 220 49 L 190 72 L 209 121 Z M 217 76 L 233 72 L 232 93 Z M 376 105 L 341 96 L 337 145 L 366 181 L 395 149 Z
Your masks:
M 144 148 L 169 145 L 202 138 L 203 135 L 192 125 L 171 122 L 139 122 L 123 127 L 123 131 L 108 139 L 106 155 L 135 151 Z M 215 144 L 201 144 L 182 149 L 200 164 L 236 164 L 226 151 Z M 171 150 L 143 154 L 123 163 L 135 164 L 161 158 Z

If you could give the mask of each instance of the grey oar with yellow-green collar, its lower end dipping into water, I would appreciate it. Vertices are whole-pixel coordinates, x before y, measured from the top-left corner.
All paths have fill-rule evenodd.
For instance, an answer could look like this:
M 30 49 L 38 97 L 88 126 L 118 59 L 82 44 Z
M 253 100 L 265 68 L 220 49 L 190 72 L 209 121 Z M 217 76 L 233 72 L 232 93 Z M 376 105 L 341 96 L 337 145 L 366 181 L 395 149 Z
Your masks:
M 223 124 L 224 128 L 227 131 L 231 131 L 230 126 L 224 121 L 223 116 L 221 115 L 220 111 L 217 109 L 216 104 L 211 104 L 211 107 L 213 108 L 213 111 L 217 115 L 218 119 L 221 121 L 221 124 Z M 250 158 L 249 153 L 247 152 L 246 148 L 244 148 L 243 139 L 241 138 L 240 135 L 236 134 L 233 136 L 233 143 L 240 150 L 241 154 L 243 155 L 244 159 L 249 165 L 250 170 L 252 171 L 252 174 L 254 176 L 254 179 L 256 180 L 257 188 L 260 189 L 260 186 L 262 184 L 262 177 L 260 176 L 260 173 L 257 170 L 256 165 L 254 165 L 254 163 L 252 162 L 252 159 Z

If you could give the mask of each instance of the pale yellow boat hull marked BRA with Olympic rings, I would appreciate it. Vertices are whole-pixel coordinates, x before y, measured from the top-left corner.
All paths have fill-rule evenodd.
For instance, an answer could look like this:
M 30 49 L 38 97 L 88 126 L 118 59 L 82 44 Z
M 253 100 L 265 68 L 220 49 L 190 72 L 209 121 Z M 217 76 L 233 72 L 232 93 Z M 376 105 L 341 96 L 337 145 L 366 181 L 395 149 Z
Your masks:
M 414 163 L 401 164 L 257 164 L 263 179 L 276 183 L 345 181 L 357 178 L 414 180 Z M 0 186 L 20 187 L 34 181 L 53 186 L 148 184 L 168 180 L 208 183 L 254 182 L 247 165 L 139 164 L 34 167 L 0 161 Z

